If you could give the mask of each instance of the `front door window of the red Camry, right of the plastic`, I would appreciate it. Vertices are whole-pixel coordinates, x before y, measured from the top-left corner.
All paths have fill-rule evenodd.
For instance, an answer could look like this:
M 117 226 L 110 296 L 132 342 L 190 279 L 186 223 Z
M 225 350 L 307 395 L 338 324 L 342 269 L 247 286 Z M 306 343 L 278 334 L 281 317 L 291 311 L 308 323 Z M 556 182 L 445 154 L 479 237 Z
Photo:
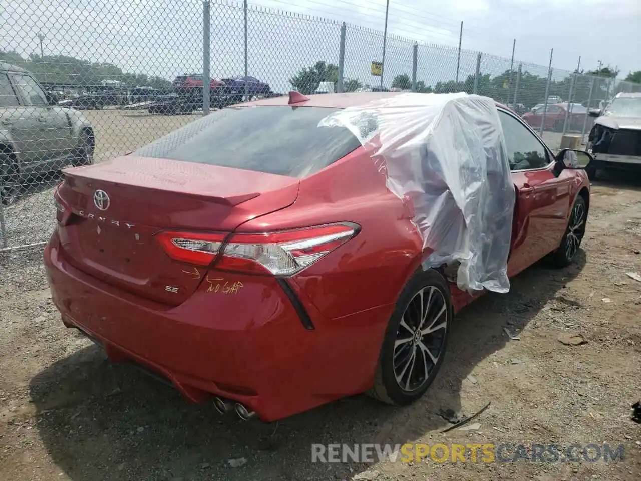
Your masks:
M 540 140 L 512 115 L 499 110 L 499 118 L 503 125 L 510 169 L 522 171 L 547 167 L 549 156 Z

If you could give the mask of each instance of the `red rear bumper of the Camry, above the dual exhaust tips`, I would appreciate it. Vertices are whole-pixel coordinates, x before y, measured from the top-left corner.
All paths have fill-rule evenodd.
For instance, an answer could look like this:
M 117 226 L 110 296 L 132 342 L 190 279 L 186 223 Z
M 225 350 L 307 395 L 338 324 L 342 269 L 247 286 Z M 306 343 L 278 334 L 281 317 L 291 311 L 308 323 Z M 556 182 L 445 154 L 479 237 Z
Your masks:
M 160 373 L 192 401 L 213 394 L 244 403 L 263 421 L 369 389 L 393 308 L 328 319 L 305 303 L 315 326 L 308 330 L 274 278 L 243 276 L 237 295 L 201 286 L 167 307 L 70 266 L 56 233 L 44 260 L 65 325 L 93 337 L 110 359 Z

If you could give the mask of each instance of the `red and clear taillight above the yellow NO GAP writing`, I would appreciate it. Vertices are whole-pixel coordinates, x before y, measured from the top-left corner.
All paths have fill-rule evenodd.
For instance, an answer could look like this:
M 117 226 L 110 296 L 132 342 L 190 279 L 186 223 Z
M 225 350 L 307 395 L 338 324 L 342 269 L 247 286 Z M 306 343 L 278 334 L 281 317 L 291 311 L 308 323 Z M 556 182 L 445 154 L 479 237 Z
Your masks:
M 237 233 L 222 250 L 216 267 L 231 271 L 288 276 L 311 266 L 360 230 L 339 223 L 272 233 Z M 206 266 L 218 255 L 224 234 L 160 232 L 156 235 L 174 259 Z

